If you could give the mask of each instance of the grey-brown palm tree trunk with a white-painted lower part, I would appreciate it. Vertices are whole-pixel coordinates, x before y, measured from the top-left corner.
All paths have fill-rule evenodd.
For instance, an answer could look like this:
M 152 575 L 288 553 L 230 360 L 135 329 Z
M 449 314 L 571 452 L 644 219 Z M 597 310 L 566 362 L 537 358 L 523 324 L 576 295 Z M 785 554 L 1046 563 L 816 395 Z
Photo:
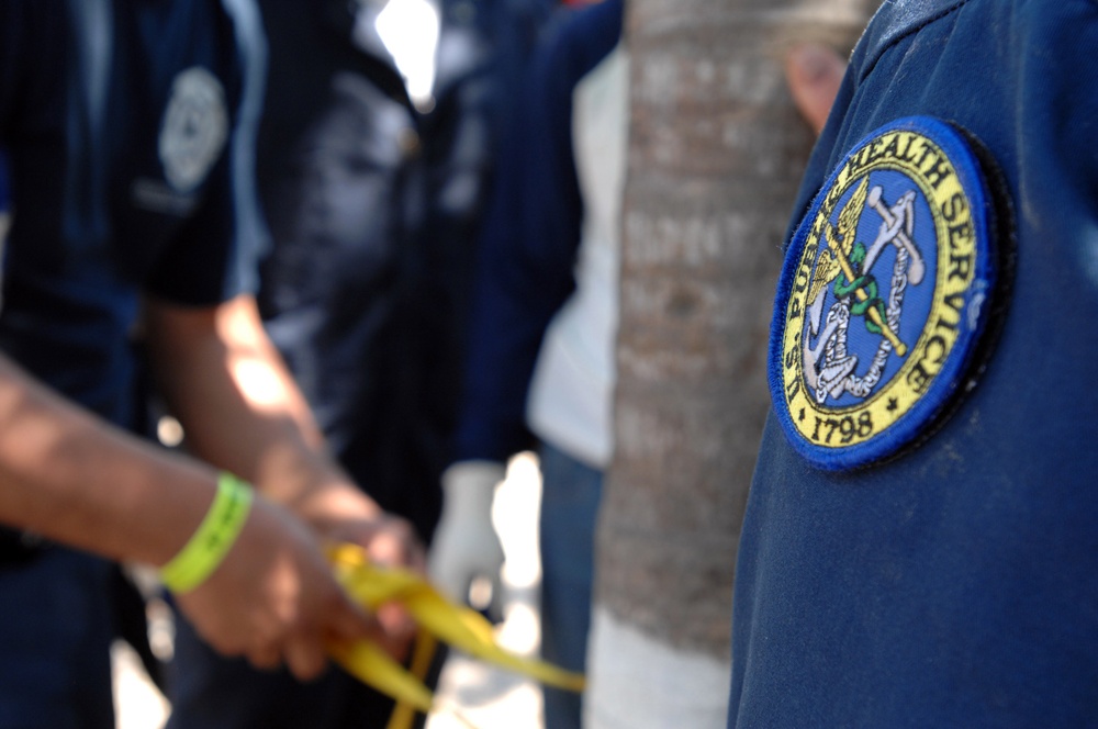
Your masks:
M 781 244 L 811 147 L 782 58 L 879 0 L 630 0 L 616 453 L 585 726 L 724 727 Z

